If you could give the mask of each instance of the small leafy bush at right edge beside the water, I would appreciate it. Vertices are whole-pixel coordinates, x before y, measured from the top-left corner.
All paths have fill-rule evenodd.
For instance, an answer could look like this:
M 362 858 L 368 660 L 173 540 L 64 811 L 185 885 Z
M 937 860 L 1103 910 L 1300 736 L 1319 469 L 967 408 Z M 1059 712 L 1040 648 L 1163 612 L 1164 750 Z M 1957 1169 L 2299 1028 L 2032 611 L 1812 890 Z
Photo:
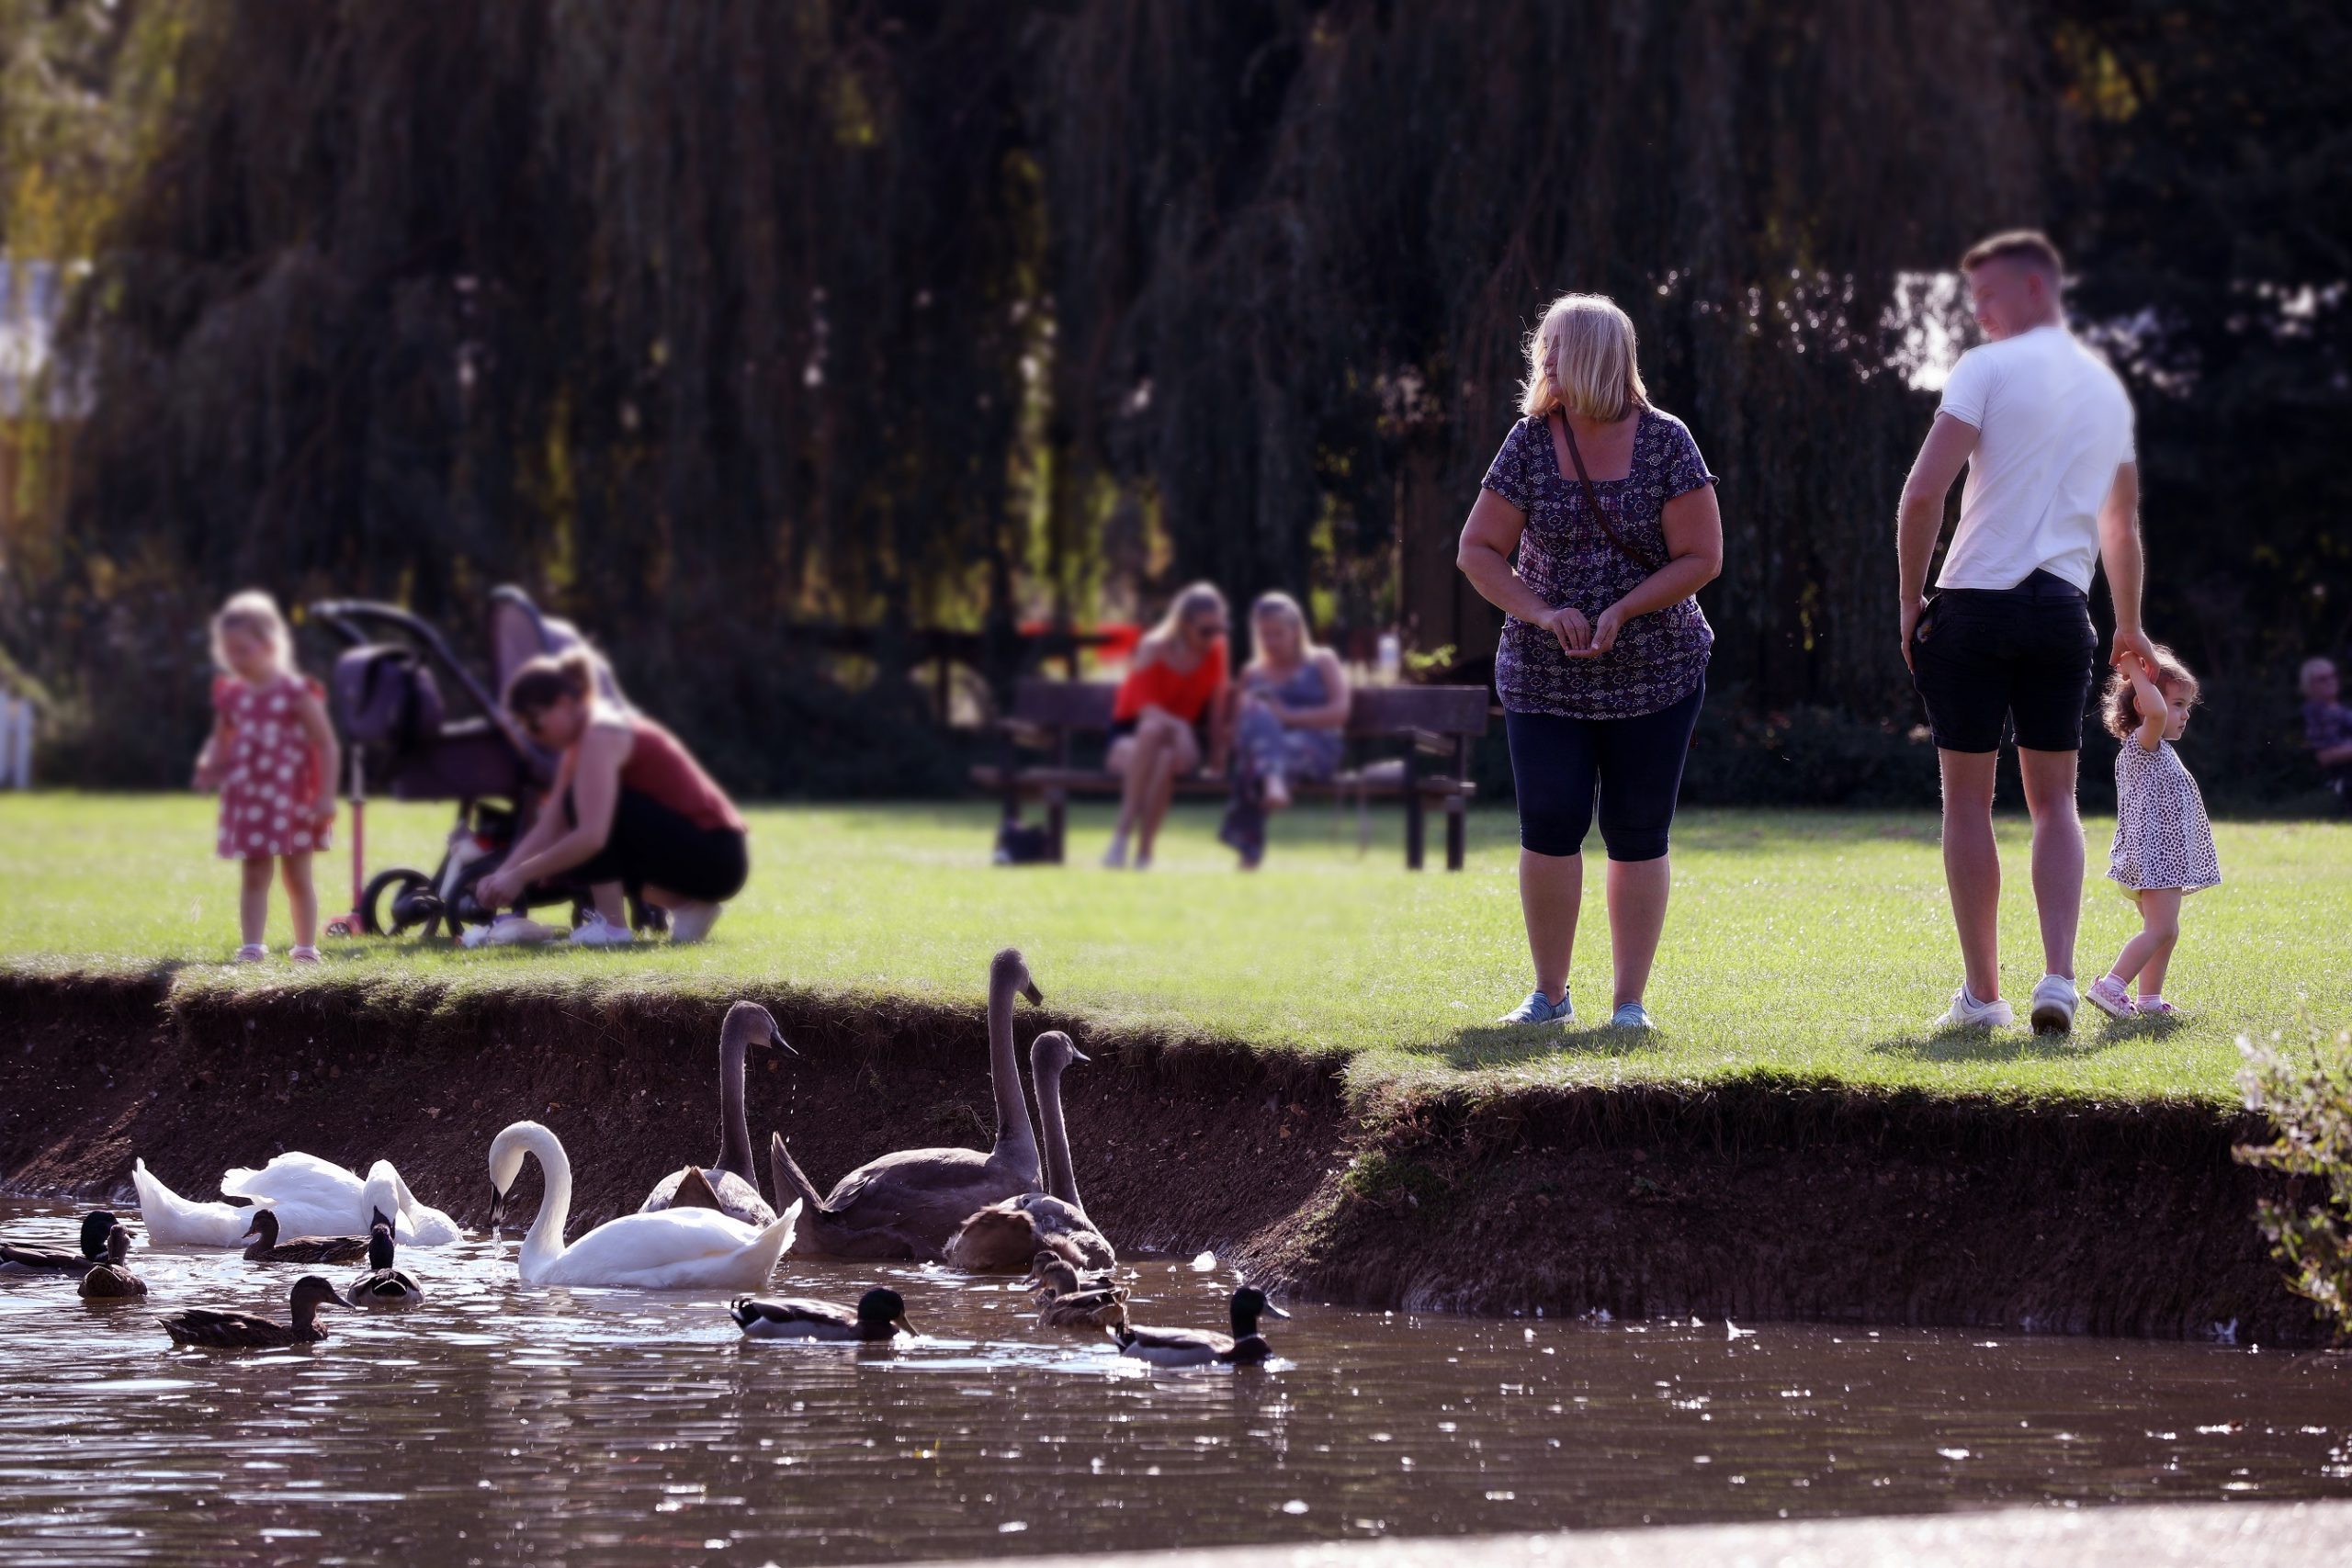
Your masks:
M 2286 1288 L 2310 1298 L 2338 1335 L 2352 1335 L 2352 1030 L 2303 1034 L 2296 1046 L 2239 1034 L 2246 1110 L 2265 1112 L 2279 1135 L 2239 1145 L 2237 1157 L 2324 1194 L 2317 1204 L 2263 1199 L 2256 1215 L 2286 1265 Z

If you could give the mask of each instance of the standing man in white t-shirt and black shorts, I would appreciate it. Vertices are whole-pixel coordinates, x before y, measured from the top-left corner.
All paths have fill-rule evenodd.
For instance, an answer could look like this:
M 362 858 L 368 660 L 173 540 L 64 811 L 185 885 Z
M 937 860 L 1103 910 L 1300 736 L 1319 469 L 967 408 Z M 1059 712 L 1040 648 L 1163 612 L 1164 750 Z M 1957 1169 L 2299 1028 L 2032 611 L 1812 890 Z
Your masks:
M 2110 663 L 2152 658 L 2140 630 L 2140 477 L 2124 383 L 2065 329 L 2058 249 L 2006 233 L 1959 261 L 1985 343 L 1962 355 L 1896 522 L 1903 663 L 1943 769 L 1943 875 L 1964 980 L 1938 1027 L 2011 1023 L 1999 980 L 2002 858 L 1992 771 L 2004 726 L 2034 820 L 2042 983 L 2032 1025 L 2074 1025 L 2082 818 L 2074 752 L 2098 663 L 2091 574 L 2107 564 Z M 1943 503 L 1969 468 L 1959 527 L 1924 597 Z M 2150 665 L 2152 668 L 2152 665 Z

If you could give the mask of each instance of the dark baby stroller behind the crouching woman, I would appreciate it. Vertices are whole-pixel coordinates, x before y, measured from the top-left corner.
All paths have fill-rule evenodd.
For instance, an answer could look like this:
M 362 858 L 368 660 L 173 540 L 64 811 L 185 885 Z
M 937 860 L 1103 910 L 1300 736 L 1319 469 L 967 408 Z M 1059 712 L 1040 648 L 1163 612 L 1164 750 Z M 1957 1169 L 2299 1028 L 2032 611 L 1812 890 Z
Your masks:
M 489 924 L 492 910 L 475 900 L 473 886 L 529 832 L 555 778 L 555 757 L 506 717 L 499 693 L 527 658 L 586 646 L 586 637 L 569 621 L 543 616 L 520 588 L 496 588 L 489 595 L 492 679 L 485 684 L 437 630 L 395 604 L 322 599 L 308 607 L 308 621 L 343 644 L 332 696 L 350 755 L 350 912 L 327 922 L 327 933 L 459 938 L 466 926 Z M 449 717 L 452 689 L 473 712 Z M 597 696 L 628 710 L 602 658 Z M 367 875 L 369 790 L 456 802 L 440 867 L 428 875 L 395 865 Z M 569 903 L 579 924 L 588 886 L 555 877 L 520 898 L 522 907 L 550 903 Z M 649 924 L 635 905 L 630 922 Z

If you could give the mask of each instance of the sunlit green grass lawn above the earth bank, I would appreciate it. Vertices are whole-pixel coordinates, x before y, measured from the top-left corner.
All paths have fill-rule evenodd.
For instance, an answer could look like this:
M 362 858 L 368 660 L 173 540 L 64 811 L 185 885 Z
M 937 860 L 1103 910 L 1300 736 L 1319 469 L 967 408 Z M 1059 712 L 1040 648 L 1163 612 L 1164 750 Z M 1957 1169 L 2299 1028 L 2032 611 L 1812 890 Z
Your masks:
M 372 806 L 369 870 L 430 867 L 445 806 Z M 209 856 L 198 797 L 0 797 L 0 964 L 195 964 L 214 985 L 428 976 L 470 985 L 746 983 L 978 1001 L 995 947 L 1030 954 L 1047 997 L 1105 1025 L 1136 1023 L 1277 1048 L 1359 1053 L 1355 1072 L 1430 1079 L 1792 1079 L 2030 1095 L 2234 1098 L 2234 1037 L 2352 1018 L 2352 827 L 2223 823 L 2225 884 L 2190 900 L 2166 994 L 2171 1027 L 2110 1025 L 2084 1009 L 2067 1041 L 2025 1030 L 1931 1037 L 1957 985 L 1936 820 L 1917 813 L 1689 811 L 1677 823 L 1675 907 L 1651 980 L 1653 1037 L 1597 1027 L 1496 1030 L 1526 994 L 1508 811 L 1470 823 L 1463 875 L 1402 870 L 1402 820 L 1303 809 L 1268 867 L 1232 870 L 1214 813 L 1178 811 L 1148 875 L 1091 865 L 1108 809 L 1073 818 L 1070 867 L 988 865 L 990 806 L 781 806 L 750 813 L 753 882 L 701 947 L 459 952 L 358 940 L 318 978 L 212 969 L 235 947 L 235 872 Z M 2136 912 L 2103 879 L 2110 823 L 2089 823 L 2084 976 L 2103 973 Z M 2025 823 L 2002 823 L 2004 990 L 2039 973 Z M 1597 851 L 1597 839 L 1595 839 Z M 1599 856 L 1588 877 L 1573 994 L 1609 1013 Z M 329 856 L 322 903 L 341 905 Z M 285 943 L 285 905 L 270 917 Z

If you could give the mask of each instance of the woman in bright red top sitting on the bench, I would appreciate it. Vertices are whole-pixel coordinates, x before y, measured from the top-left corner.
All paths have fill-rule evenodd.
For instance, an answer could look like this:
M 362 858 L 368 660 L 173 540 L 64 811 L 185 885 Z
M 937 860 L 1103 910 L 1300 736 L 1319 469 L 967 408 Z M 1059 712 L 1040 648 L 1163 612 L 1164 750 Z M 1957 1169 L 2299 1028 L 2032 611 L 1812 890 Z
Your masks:
M 1120 827 L 1103 865 L 1124 867 L 1131 837 L 1136 870 L 1150 867 L 1176 780 L 1202 764 L 1204 724 L 1209 771 L 1223 771 L 1225 670 L 1225 595 L 1216 583 L 1192 583 L 1136 644 L 1110 708 L 1103 764 L 1120 776 Z

